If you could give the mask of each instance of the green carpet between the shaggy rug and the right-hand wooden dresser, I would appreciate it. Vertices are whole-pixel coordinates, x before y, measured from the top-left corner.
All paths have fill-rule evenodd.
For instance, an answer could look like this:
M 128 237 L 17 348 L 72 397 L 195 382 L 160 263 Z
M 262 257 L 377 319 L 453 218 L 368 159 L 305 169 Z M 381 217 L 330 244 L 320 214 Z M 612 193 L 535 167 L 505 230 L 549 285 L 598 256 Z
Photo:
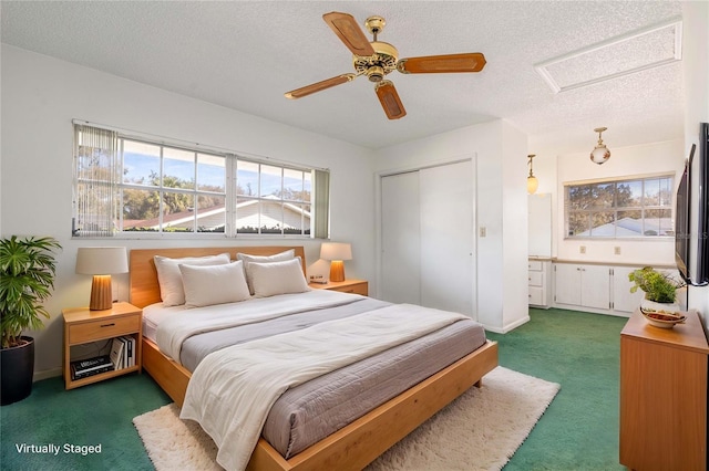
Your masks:
M 562 389 L 505 467 L 511 470 L 624 470 L 618 463 L 620 331 L 625 317 L 530 310 L 505 334 L 500 364 Z

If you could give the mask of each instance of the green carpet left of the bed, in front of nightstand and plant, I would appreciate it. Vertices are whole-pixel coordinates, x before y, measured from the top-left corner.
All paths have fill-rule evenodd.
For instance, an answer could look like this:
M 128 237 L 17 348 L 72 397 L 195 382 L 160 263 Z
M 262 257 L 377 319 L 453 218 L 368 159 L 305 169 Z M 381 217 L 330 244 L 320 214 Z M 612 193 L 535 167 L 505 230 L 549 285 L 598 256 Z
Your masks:
M 4 470 L 152 470 L 133 427 L 135 416 L 172 400 L 146 374 L 136 373 L 64 390 L 61 378 L 34 384 L 32 395 L 3 406 L 1 412 Z M 19 452 L 17 446 L 60 447 L 51 453 Z M 65 452 L 65 446 L 101 444 L 101 453 Z

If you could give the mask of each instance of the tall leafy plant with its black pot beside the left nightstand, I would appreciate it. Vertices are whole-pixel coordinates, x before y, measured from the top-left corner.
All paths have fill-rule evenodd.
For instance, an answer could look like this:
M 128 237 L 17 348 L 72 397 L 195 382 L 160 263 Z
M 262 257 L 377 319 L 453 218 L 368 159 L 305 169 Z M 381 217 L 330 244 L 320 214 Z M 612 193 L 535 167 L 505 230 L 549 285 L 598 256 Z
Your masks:
M 0 402 L 22 400 L 32 393 L 34 338 L 22 335 L 43 326 L 49 313 L 42 305 L 51 295 L 56 273 L 51 237 L 0 240 Z

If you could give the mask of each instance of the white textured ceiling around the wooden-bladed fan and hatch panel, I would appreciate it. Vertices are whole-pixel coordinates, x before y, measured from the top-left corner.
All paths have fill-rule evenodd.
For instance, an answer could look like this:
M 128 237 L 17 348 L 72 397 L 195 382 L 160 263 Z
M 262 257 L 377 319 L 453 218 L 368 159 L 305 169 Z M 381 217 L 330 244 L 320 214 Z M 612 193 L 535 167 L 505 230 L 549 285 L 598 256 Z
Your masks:
M 534 65 L 681 14 L 676 1 L 2 1 L 2 42 L 267 119 L 379 148 L 505 118 L 531 146 L 609 147 L 684 136 L 681 62 L 554 94 Z M 401 57 L 483 52 L 477 74 L 393 72 L 408 115 L 389 121 L 322 21 L 386 18 Z M 368 34 L 369 35 L 369 34 Z M 633 56 L 609 61 L 635 63 Z M 578 72 L 576 72 L 578 74 Z M 534 150 L 531 148 L 530 150 Z

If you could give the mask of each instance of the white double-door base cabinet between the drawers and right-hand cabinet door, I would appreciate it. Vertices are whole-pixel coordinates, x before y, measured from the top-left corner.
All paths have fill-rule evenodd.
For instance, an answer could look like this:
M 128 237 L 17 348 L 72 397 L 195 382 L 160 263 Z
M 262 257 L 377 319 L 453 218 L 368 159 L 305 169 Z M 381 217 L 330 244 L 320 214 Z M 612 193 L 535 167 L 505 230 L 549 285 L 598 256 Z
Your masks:
M 556 304 L 609 310 L 610 268 L 576 263 L 554 264 Z

